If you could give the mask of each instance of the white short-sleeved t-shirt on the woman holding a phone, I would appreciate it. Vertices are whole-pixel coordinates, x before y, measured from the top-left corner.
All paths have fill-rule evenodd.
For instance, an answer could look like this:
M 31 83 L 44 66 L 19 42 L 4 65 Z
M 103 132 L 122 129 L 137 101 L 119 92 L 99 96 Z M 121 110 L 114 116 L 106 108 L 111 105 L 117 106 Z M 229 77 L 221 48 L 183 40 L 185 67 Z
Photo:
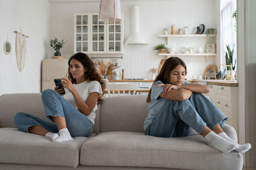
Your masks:
M 89 94 L 92 92 L 97 92 L 99 93 L 99 96 L 102 96 L 102 89 L 99 81 L 84 81 L 82 83 L 73 84 L 73 85 L 76 88 L 77 92 L 82 97 L 84 102 L 86 101 Z M 65 92 L 66 94 L 63 95 L 64 99 L 66 99 L 70 104 L 72 104 L 72 106 L 74 106 L 74 108 L 77 109 L 76 101 L 72 93 L 68 89 L 65 89 Z M 92 112 L 87 116 L 92 121 L 93 125 L 94 125 L 94 120 L 96 118 L 96 113 L 95 113 L 96 110 L 97 110 L 97 103 L 95 104 Z

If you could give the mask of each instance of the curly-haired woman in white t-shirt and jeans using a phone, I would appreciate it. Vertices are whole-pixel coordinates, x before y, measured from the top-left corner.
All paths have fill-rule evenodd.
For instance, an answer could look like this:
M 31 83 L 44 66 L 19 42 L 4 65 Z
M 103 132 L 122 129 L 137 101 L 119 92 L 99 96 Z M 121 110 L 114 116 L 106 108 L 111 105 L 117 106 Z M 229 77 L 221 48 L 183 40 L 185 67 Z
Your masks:
M 19 112 L 14 123 L 20 131 L 46 136 L 53 142 L 92 134 L 95 111 L 106 85 L 88 55 L 79 52 L 70 57 L 68 77 L 61 78 L 61 84 L 65 94 L 58 87 L 42 92 L 45 116 L 52 121 Z

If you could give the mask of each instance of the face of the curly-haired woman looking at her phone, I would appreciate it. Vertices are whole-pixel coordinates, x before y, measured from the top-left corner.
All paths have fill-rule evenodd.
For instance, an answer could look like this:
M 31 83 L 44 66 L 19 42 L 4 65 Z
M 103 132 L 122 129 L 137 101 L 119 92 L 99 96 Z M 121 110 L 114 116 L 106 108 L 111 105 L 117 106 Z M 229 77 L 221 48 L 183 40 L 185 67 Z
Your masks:
M 86 69 L 84 68 L 83 64 L 81 64 L 81 62 L 79 62 L 76 59 L 72 59 L 70 61 L 69 67 L 70 67 L 70 72 L 74 79 L 84 77 L 84 72 L 86 71 Z

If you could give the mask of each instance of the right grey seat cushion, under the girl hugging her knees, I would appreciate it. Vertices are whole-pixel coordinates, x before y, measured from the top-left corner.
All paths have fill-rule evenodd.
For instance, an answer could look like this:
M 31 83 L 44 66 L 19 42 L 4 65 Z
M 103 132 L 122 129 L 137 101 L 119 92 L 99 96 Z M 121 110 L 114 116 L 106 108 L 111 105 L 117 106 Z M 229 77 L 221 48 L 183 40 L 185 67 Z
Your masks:
M 241 169 L 241 153 L 221 153 L 200 135 L 157 138 L 140 132 L 102 132 L 81 148 L 80 164 L 91 166 Z

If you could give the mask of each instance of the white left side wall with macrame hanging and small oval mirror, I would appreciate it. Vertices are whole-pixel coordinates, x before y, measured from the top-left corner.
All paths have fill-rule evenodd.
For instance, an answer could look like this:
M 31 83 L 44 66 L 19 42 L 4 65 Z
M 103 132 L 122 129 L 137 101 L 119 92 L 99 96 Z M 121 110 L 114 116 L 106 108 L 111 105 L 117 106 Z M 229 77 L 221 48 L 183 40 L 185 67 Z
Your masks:
M 40 92 L 41 62 L 48 56 L 51 5 L 47 0 L 0 1 L 0 95 Z M 15 54 L 15 33 L 28 35 L 25 67 L 19 72 Z M 4 41 L 12 43 L 12 53 L 3 51 Z

